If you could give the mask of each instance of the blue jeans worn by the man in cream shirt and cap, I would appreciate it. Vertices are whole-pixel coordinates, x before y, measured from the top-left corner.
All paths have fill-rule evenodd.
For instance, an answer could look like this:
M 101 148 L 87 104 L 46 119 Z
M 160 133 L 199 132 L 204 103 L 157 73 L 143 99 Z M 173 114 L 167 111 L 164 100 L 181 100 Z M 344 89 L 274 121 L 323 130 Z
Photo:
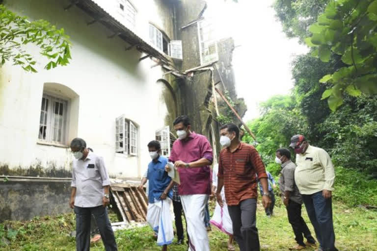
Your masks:
M 311 195 L 303 194 L 302 200 L 323 251 L 338 251 L 335 248 L 331 198 L 324 199 L 320 191 Z

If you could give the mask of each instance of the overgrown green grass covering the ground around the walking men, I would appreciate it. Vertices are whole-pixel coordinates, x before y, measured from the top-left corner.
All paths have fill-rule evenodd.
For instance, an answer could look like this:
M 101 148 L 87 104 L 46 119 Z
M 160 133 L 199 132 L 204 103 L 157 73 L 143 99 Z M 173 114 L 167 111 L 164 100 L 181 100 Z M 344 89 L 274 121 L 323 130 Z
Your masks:
M 277 198 L 279 200 L 279 198 Z M 361 208 L 349 208 L 344 203 L 335 202 L 334 227 L 336 245 L 340 251 L 377 250 L 377 212 Z M 265 216 L 262 206 L 258 205 L 257 226 L 262 251 L 288 250 L 295 245 L 294 234 L 288 223 L 286 209 L 276 207 L 272 218 Z M 303 217 L 314 234 L 306 211 Z M 57 217 L 34 218 L 27 222 L 5 222 L 0 225 L 0 240 L 6 237 L 9 245 L 2 243 L 2 251 L 74 251 L 75 239 L 70 232 L 75 229 L 75 216 L 65 214 Z M 227 236 L 212 228 L 209 232 L 211 250 L 227 250 Z M 115 233 L 120 251 L 158 251 L 150 227 L 118 230 Z M 168 247 L 171 251 L 185 251 L 185 245 Z M 103 245 L 94 245 L 92 251 L 102 251 Z M 314 249 L 308 248 L 308 251 Z

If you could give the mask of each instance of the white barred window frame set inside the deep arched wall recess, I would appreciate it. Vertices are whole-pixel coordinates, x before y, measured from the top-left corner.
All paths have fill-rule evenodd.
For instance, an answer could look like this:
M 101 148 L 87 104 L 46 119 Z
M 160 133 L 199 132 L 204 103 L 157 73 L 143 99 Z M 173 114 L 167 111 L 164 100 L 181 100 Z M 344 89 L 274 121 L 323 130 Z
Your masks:
M 68 123 L 67 123 L 67 118 L 68 118 L 68 100 L 62 99 L 60 97 L 55 97 L 50 94 L 43 93 L 42 95 L 42 100 L 41 100 L 41 106 L 42 106 L 42 101 L 43 99 L 48 100 L 48 104 L 46 107 L 46 101 L 45 101 L 45 108 L 47 108 L 47 111 L 40 110 L 40 115 L 39 115 L 39 129 L 38 129 L 38 140 L 44 143 L 52 143 L 52 144 L 57 144 L 57 145 L 66 145 L 66 135 L 67 135 L 67 128 L 68 128 Z M 54 122 L 55 122 L 55 113 L 54 113 L 54 105 L 55 102 L 58 102 L 59 105 L 62 104 L 62 118 L 61 118 L 61 123 L 58 125 L 56 128 Z M 59 109 L 60 110 L 60 109 Z M 43 115 L 43 123 L 41 123 L 41 115 L 42 112 L 44 113 Z M 59 111 L 58 111 L 59 112 Z M 46 126 L 46 130 L 44 128 L 42 129 L 41 133 L 41 127 Z M 60 139 L 57 138 L 57 134 L 54 133 L 55 129 L 60 129 Z M 45 133 L 44 133 L 45 132 Z M 43 135 L 46 135 L 45 139 L 43 138 Z M 42 138 L 41 138 L 42 136 Z

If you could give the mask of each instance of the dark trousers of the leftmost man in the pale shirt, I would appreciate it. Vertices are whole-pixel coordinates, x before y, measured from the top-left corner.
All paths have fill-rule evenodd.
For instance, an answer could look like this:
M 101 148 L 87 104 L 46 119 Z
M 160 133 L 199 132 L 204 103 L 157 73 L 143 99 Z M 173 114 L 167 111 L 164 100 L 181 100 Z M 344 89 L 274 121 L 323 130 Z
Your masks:
M 117 251 L 114 232 L 108 220 L 108 211 L 104 206 L 74 208 L 76 214 L 76 250 L 89 251 L 90 249 L 90 220 L 91 215 L 96 219 L 98 229 L 106 251 Z

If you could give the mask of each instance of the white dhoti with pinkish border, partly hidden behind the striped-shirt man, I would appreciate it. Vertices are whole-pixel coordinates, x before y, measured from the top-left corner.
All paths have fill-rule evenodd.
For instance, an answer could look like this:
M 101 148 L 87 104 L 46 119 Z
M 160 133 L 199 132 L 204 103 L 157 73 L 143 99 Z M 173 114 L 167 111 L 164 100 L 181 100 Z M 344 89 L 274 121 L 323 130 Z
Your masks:
M 224 233 L 228 235 L 233 235 L 232 220 L 230 219 L 230 216 L 229 216 L 228 206 L 226 205 L 225 195 L 223 191 L 221 192 L 221 198 L 222 198 L 222 201 L 224 202 L 224 206 L 221 207 L 216 202 L 215 212 L 214 212 L 214 215 L 212 216 L 210 223 L 218 227 L 218 229 L 220 229 Z

